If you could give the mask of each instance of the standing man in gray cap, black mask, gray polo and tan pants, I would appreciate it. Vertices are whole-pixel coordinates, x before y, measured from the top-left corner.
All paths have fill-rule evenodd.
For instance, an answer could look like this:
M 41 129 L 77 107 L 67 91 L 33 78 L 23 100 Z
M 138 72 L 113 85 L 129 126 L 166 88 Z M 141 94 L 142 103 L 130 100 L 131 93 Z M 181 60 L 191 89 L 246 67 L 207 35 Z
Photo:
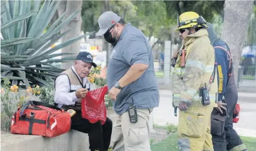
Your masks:
M 144 34 L 113 12 L 98 19 L 113 46 L 107 69 L 109 96 L 118 118 L 113 126 L 113 150 L 151 150 L 149 115 L 159 104 L 151 46 Z

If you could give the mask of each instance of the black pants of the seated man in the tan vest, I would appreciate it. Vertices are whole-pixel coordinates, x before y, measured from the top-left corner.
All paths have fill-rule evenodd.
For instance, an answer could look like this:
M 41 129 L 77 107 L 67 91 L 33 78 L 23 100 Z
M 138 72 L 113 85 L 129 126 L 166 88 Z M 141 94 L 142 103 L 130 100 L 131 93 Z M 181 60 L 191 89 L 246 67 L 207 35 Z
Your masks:
M 104 125 L 102 125 L 100 121 L 92 124 L 86 118 L 82 118 L 81 111 L 76 112 L 77 113 L 71 117 L 71 129 L 88 133 L 90 150 L 108 150 L 112 133 L 112 121 L 107 117 Z

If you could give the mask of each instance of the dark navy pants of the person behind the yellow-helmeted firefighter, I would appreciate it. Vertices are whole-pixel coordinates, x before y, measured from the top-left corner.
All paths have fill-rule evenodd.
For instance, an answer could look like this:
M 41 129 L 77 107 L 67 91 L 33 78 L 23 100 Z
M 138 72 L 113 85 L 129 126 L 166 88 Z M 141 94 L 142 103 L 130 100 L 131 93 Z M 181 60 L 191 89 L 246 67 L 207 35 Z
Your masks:
M 233 87 L 233 88 L 232 88 Z M 237 134 L 237 132 L 233 129 L 233 112 L 236 107 L 238 94 L 236 90 L 236 85 L 232 85 L 227 89 L 225 98 L 227 100 L 227 108 L 228 108 L 228 117 L 226 121 L 223 122 L 223 126 L 216 127 L 216 130 L 224 131 L 220 134 L 212 133 L 212 143 L 214 144 L 214 150 L 230 150 L 230 151 L 244 151 L 247 150 L 246 146 L 243 144 L 241 138 Z M 212 124 L 212 126 L 217 126 L 216 124 Z

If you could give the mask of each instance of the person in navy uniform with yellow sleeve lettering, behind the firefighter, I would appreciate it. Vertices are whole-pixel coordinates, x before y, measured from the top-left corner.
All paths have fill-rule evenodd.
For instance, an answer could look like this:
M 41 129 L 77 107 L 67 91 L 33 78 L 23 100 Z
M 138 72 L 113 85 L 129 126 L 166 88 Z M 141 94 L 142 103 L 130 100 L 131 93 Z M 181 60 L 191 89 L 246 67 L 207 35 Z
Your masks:
M 243 144 L 237 132 L 233 129 L 233 112 L 238 100 L 236 81 L 233 74 L 233 62 L 231 51 L 228 45 L 218 38 L 214 26 L 210 23 L 207 31 L 211 44 L 215 48 L 217 62 L 217 79 L 218 79 L 218 101 L 227 102 L 227 113 L 225 109 L 219 105 L 214 109 L 211 117 L 211 135 L 214 150 L 237 150 L 245 151 L 246 146 Z M 222 108 L 222 109 L 221 109 Z M 224 115 L 223 115 L 224 112 Z

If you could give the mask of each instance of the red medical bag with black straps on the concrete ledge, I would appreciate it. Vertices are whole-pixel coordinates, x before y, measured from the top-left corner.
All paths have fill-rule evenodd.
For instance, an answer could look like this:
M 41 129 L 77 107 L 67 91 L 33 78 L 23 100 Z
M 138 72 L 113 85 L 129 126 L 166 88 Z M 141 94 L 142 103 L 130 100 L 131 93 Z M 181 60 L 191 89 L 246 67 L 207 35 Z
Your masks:
M 55 137 L 69 132 L 70 126 L 68 112 L 48 103 L 28 101 L 14 113 L 10 132 Z

